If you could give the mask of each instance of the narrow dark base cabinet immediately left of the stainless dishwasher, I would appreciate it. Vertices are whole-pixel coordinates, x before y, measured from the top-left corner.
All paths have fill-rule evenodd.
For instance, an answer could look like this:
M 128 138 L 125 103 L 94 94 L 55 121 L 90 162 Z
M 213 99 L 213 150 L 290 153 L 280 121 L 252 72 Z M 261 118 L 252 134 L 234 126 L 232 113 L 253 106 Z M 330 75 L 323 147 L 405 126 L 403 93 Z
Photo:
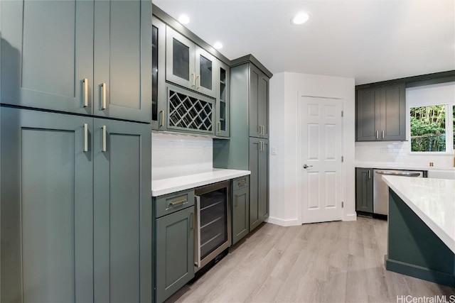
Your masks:
M 373 168 L 355 168 L 355 210 L 373 213 Z

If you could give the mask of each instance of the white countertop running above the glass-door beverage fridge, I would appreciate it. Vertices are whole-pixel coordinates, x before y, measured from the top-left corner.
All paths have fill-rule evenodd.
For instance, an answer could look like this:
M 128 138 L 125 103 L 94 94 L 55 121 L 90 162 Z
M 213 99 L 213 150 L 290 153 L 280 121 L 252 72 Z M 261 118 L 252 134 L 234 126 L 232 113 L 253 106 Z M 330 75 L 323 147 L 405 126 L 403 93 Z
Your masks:
M 208 172 L 198 172 L 193 175 L 184 175 L 151 181 L 151 195 L 153 197 L 171 194 L 180 190 L 200 187 L 215 182 L 234 179 L 250 175 L 250 170 L 223 170 L 214 168 Z

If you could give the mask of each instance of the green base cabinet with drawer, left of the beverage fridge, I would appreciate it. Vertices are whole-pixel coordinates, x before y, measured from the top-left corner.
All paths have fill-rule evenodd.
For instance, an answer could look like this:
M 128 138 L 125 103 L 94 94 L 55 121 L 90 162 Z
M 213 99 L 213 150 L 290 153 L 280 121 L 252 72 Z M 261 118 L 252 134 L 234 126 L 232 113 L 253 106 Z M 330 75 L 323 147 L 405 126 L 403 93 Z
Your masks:
M 156 302 L 194 277 L 194 190 L 154 197 L 156 209 Z

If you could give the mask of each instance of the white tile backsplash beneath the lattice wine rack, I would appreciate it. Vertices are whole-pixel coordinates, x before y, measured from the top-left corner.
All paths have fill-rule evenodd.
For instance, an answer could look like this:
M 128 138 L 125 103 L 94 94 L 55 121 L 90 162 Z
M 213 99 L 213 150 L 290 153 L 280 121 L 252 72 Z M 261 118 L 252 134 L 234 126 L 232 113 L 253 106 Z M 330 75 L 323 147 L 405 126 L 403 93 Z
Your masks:
M 151 134 L 151 177 L 165 179 L 213 168 L 212 138 Z

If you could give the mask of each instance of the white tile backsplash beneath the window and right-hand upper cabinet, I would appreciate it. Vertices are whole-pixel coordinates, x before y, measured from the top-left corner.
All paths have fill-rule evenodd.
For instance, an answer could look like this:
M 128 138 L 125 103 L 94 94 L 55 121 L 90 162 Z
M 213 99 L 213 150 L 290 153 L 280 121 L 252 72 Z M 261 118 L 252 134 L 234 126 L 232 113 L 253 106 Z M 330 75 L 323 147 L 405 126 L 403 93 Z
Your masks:
M 410 154 L 410 142 L 355 142 L 356 162 L 387 162 L 390 164 L 426 167 L 453 167 L 454 155 Z

